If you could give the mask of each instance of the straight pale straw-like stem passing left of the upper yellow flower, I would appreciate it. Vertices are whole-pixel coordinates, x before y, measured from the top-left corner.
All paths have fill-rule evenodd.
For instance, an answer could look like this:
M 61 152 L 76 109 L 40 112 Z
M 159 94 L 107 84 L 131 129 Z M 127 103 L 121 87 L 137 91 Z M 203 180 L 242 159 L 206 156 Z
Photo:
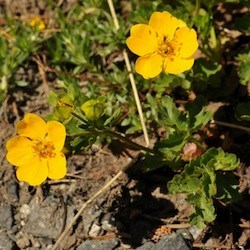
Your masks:
M 115 12 L 113 1 L 112 0 L 107 0 L 107 1 L 108 1 L 110 13 L 111 13 L 112 18 L 114 20 L 115 29 L 118 30 L 120 25 L 119 25 L 119 22 L 118 22 L 118 19 L 117 19 L 117 15 L 116 15 L 116 12 Z M 141 125 L 142 125 L 142 131 L 143 131 L 144 139 L 145 139 L 145 143 L 146 143 L 145 146 L 148 147 L 149 146 L 148 132 L 147 132 L 147 128 L 146 128 L 146 125 L 145 125 L 144 116 L 143 116 L 143 112 L 142 112 L 142 107 L 141 107 L 138 91 L 137 91 L 136 84 L 135 84 L 135 78 L 134 78 L 134 75 L 132 73 L 131 63 L 129 61 L 127 52 L 125 50 L 123 50 L 122 53 L 123 53 L 124 61 L 125 61 L 125 64 L 126 64 L 126 67 L 127 67 L 127 70 L 128 70 L 129 80 L 130 80 L 130 83 L 131 83 L 131 86 L 132 86 L 132 90 L 133 90 L 133 94 L 134 94 L 138 114 L 139 114 Z

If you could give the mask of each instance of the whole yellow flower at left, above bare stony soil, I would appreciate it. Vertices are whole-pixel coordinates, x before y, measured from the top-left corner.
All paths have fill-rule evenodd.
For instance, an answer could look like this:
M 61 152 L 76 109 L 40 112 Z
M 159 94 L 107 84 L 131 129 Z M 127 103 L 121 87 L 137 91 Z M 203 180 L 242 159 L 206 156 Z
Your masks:
M 16 125 L 18 135 L 6 143 L 7 160 L 17 166 L 17 179 L 31 186 L 47 177 L 61 179 L 66 174 L 62 153 L 66 131 L 57 121 L 45 122 L 35 114 L 26 114 Z

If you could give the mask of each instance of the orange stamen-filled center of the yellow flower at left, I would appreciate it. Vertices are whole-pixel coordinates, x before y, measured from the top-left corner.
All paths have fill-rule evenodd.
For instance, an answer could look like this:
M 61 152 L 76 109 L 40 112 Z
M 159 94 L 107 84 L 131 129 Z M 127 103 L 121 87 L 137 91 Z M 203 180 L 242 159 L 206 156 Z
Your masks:
M 36 155 L 38 155 L 40 158 L 55 157 L 55 147 L 51 142 L 36 140 L 33 148 Z

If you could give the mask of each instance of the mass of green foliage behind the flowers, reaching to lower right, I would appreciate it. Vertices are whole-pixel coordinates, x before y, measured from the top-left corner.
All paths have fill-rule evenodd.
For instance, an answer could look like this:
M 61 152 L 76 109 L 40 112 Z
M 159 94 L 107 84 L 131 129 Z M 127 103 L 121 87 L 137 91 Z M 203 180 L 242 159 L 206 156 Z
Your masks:
M 228 5 L 230 9 L 239 5 L 242 9 L 249 7 L 248 1 L 114 0 L 119 29 L 114 25 L 107 1 L 74 1 L 69 9 L 64 9 L 64 3 L 58 7 L 57 1 L 49 0 L 47 4 L 54 15 L 48 15 L 51 26 L 43 32 L 18 17 L 6 16 L 6 24 L 1 26 L 0 103 L 16 85 L 28 89 L 29 82 L 15 79 L 19 67 L 38 65 L 45 76 L 48 72 L 55 74 L 53 91 L 48 94 L 53 111 L 47 120 L 65 125 L 66 146 L 73 154 L 88 149 L 96 141 L 109 142 L 114 137 L 129 144 L 126 135 L 142 134 L 123 53 L 127 50 L 126 38 L 132 25 L 148 24 L 154 11 L 169 11 L 197 32 L 199 50 L 192 69 L 177 75 L 162 73 L 150 80 L 134 74 L 147 130 L 156 138 L 156 143 L 153 149 L 131 144 L 145 152 L 143 172 L 170 167 L 178 173 L 168 188 L 174 194 L 187 194 L 187 201 L 194 207 L 192 224 L 204 228 L 213 222 L 215 199 L 228 203 L 238 198 L 237 179 L 232 171 L 239 161 L 234 154 L 220 148 L 209 148 L 204 153 L 204 128 L 212 119 L 206 106 L 214 101 L 231 102 L 235 93 L 232 90 L 244 88 L 250 81 L 249 45 L 243 43 L 237 52 L 232 51 L 241 36 L 232 39 L 231 27 L 224 27 L 223 23 L 233 25 L 233 29 L 239 29 L 248 39 L 249 15 L 240 13 L 235 18 L 232 13 L 233 24 L 224 19 L 220 22 L 217 15 L 220 8 L 227 11 Z M 172 45 L 165 45 L 171 53 L 172 50 L 176 53 Z M 135 72 L 138 57 L 129 51 L 128 56 L 131 71 Z M 40 65 L 37 58 L 41 58 L 44 65 Z M 227 78 L 229 71 L 235 72 L 233 83 Z M 188 101 L 192 96 L 196 99 Z M 231 104 L 233 109 L 237 107 L 238 121 L 248 124 L 250 104 L 239 103 L 238 99 L 229 106 Z M 159 131 L 163 131 L 162 134 Z M 190 144 L 197 151 L 191 158 L 185 158 L 184 151 Z

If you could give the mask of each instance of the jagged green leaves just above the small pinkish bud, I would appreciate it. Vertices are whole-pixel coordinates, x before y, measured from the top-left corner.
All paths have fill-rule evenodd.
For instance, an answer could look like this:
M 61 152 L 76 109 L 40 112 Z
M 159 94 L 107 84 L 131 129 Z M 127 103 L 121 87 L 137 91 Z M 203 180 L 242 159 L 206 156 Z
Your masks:
M 155 149 L 163 154 L 171 167 L 179 167 L 184 145 L 194 142 L 200 146 L 193 133 L 204 127 L 212 118 L 212 114 L 205 111 L 205 100 L 202 97 L 187 103 L 185 112 L 180 111 L 169 96 L 157 102 L 148 95 L 148 101 L 155 121 L 166 130 L 166 138 L 157 142 Z

